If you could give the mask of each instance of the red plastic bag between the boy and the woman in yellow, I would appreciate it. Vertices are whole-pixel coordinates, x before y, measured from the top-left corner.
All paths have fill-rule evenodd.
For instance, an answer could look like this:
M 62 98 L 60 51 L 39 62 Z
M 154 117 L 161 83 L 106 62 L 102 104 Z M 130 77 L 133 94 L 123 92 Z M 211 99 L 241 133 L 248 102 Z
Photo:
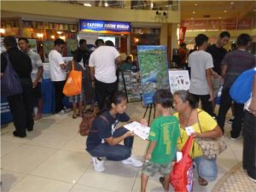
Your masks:
M 193 160 L 189 156 L 194 137 L 189 137 L 182 148 L 183 157 L 176 162 L 170 175 L 170 183 L 176 192 L 191 192 L 193 190 Z

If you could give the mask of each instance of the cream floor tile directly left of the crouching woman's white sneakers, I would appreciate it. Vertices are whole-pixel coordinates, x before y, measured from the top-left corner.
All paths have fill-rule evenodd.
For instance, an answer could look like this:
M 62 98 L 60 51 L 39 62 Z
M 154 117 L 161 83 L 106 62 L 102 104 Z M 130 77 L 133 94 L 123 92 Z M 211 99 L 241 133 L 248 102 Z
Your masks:
M 90 160 L 89 155 L 85 153 L 59 150 L 31 174 L 73 183 L 88 169 Z

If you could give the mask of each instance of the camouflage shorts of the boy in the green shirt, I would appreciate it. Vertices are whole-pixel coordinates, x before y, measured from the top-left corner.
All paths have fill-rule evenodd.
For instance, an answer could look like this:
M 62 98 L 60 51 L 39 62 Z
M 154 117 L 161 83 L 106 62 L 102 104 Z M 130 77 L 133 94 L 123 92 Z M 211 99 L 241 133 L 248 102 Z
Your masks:
M 157 164 L 153 163 L 149 160 L 146 160 L 143 162 L 143 167 L 142 167 L 142 173 L 153 177 L 155 173 L 160 173 L 161 175 L 169 175 L 172 170 L 172 162 L 170 164 Z

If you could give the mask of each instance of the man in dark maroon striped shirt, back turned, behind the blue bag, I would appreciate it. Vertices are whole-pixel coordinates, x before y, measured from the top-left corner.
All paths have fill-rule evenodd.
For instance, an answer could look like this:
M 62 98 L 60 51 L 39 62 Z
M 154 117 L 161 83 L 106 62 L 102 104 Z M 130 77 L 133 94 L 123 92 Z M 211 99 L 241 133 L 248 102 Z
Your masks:
M 248 34 L 241 34 L 237 38 L 237 49 L 224 56 L 222 64 L 222 81 L 224 81 L 220 105 L 218 110 L 218 125 L 224 131 L 225 116 L 228 112 L 232 99 L 230 97 L 230 87 L 236 81 L 238 76 L 244 71 L 255 67 L 255 58 L 253 54 L 247 52 L 251 44 L 251 37 Z M 230 136 L 232 140 L 238 139 L 241 132 L 241 121 L 243 117 L 243 104 L 234 102 L 234 122 Z

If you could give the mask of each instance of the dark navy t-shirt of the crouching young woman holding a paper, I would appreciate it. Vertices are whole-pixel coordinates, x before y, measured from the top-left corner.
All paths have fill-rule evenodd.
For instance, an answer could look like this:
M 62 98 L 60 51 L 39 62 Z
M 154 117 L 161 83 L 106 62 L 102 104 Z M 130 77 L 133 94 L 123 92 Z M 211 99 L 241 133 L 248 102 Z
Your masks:
M 97 145 L 104 143 L 104 139 L 113 136 L 116 125 L 120 122 L 125 122 L 130 119 L 126 113 L 117 113 L 115 118 L 109 113 L 109 111 L 102 113 L 108 122 L 101 117 L 96 117 L 92 124 L 92 131 L 90 131 L 89 136 L 86 141 L 86 149 L 88 151 L 95 148 Z

